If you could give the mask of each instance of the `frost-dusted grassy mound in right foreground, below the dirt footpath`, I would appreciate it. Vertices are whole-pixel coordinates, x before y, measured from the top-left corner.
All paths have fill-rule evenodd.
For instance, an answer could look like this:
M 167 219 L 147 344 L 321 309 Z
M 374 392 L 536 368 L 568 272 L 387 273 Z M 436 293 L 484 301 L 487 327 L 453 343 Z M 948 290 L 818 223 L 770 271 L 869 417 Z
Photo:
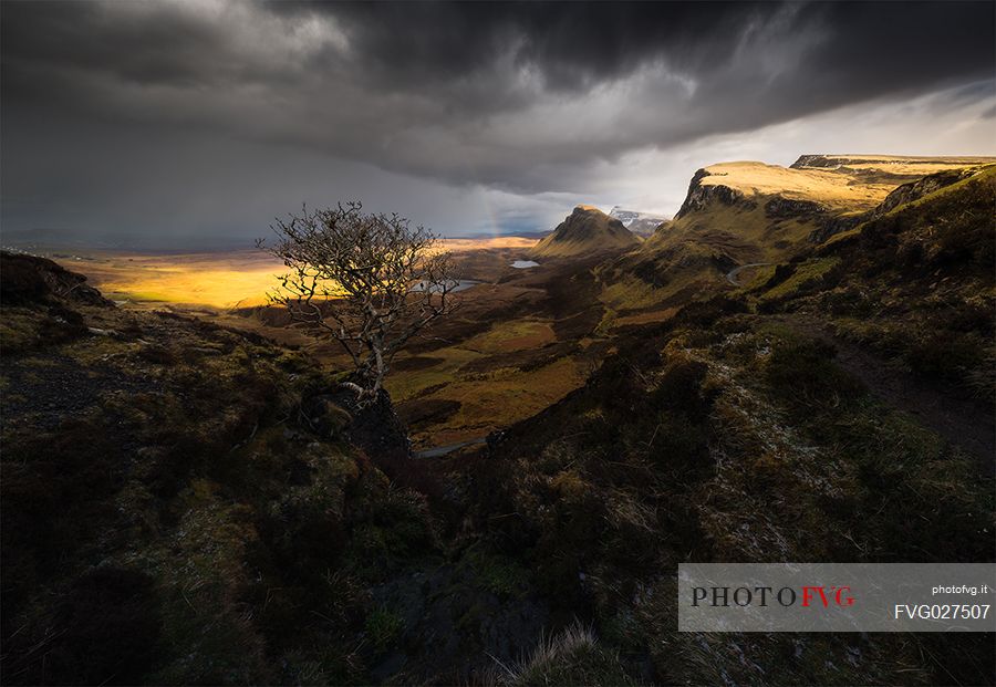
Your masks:
M 525 556 L 631 675 L 992 681 L 984 636 L 676 633 L 683 561 L 992 561 L 994 485 L 976 457 L 869 392 L 832 344 L 743 301 L 686 308 L 620 347 L 583 389 L 507 433 L 470 499 L 489 545 Z

